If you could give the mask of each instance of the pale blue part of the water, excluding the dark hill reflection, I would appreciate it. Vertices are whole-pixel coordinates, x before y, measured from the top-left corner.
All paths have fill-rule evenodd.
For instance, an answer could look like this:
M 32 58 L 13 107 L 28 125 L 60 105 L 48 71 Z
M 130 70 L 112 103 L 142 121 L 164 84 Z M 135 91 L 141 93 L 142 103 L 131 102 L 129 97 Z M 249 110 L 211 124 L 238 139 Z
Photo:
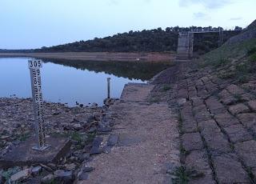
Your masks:
M 30 70 L 28 58 L 0 58 L 0 97 L 16 95 L 30 98 Z M 145 79 L 120 77 L 110 72 L 77 69 L 58 62 L 45 62 L 41 69 L 42 94 L 48 102 L 75 102 L 87 105 L 97 102 L 102 105 L 106 98 L 106 78 L 111 78 L 111 97 L 119 98 L 127 82 L 146 82 Z M 114 72 L 113 72 L 114 73 Z

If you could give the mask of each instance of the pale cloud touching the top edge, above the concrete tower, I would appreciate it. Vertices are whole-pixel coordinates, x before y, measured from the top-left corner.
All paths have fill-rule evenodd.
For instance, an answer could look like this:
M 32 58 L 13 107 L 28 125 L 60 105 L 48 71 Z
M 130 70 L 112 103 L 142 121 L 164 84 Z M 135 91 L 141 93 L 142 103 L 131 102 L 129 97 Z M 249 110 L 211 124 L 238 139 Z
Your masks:
M 231 0 L 179 0 L 179 6 L 182 7 L 190 6 L 191 4 L 201 4 L 208 9 L 218 9 L 230 3 L 232 3 Z

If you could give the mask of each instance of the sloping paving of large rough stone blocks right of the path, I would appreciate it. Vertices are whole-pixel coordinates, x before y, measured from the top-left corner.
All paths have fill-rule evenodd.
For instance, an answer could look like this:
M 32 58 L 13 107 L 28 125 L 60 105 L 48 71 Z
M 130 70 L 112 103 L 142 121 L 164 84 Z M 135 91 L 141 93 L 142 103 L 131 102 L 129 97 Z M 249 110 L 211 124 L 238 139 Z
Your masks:
M 197 70 L 184 76 L 170 106 L 182 102 L 182 164 L 197 173 L 190 183 L 255 183 L 256 81 L 232 84 Z

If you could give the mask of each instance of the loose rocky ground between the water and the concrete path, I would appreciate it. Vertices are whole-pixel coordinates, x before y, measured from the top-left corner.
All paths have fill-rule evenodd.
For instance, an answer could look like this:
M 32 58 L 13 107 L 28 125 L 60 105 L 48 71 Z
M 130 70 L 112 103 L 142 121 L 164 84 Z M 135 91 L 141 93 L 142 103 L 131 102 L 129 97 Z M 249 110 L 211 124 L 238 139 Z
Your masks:
M 110 104 L 111 100 L 106 102 Z M 33 166 L 15 166 L 0 169 L 0 183 L 72 183 L 82 180 L 82 173 L 91 168 L 83 166 L 94 154 L 99 154 L 98 134 L 110 131 L 103 125 L 107 105 L 96 104 L 84 107 L 67 107 L 59 103 L 45 103 L 47 137 L 70 138 L 70 153 L 56 163 Z M 21 98 L 0 98 L 0 158 L 8 154 L 14 146 L 22 144 L 34 136 L 34 114 L 32 101 Z M 86 170 L 86 171 L 85 171 Z

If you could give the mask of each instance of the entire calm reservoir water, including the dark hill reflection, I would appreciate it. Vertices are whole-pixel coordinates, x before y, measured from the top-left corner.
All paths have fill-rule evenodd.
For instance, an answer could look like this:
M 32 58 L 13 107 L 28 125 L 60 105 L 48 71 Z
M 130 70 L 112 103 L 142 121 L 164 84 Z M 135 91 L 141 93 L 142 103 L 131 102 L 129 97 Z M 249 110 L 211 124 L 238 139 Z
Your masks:
M 28 58 L 0 58 L 0 97 L 15 95 L 30 98 L 30 71 Z M 62 102 L 75 106 L 76 102 L 102 105 L 107 96 L 106 78 L 110 81 L 110 96 L 119 98 L 128 82 L 146 82 L 158 71 L 155 66 L 133 66 L 129 63 L 44 61 L 42 94 L 47 102 Z M 160 67 L 161 68 L 161 67 Z M 158 70 L 162 70 L 162 68 Z

